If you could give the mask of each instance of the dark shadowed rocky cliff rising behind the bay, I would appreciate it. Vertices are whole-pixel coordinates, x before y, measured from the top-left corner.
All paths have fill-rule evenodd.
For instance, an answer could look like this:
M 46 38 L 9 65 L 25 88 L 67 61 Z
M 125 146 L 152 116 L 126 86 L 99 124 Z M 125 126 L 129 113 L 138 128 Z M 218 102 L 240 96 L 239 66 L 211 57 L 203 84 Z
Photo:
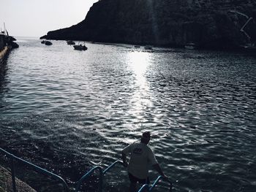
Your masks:
M 233 48 L 256 41 L 256 1 L 101 0 L 82 22 L 41 38 Z

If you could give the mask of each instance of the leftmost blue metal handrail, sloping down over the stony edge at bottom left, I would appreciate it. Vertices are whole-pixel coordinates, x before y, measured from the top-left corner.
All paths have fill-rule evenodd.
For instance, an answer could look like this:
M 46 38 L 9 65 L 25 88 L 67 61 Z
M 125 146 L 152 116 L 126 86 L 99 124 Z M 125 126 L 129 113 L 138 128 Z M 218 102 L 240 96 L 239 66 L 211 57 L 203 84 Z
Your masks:
M 52 177 L 53 179 L 59 180 L 63 185 L 64 185 L 64 191 L 69 191 L 69 188 L 67 186 L 67 183 L 65 182 L 64 179 L 62 179 L 59 175 L 54 174 L 52 172 L 48 172 L 48 170 L 46 169 L 42 169 L 41 167 L 31 164 L 28 161 L 23 160 L 22 158 L 18 158 L 15 155 L 12 155 L 11 153 L 8 153 L 6 150 L 2 149 L 0 147 L 0 151 L 2 153 L 4 153 L 5 155 L 7 155 L 8 158 L 11 159 L 11 172 L 12 172 L 12 190 L 15 192 L 16 191 L 16 184 L 15 184 L 15 164 L 13 160 L 16 160 L 22 164 L 25 164 L 26 166 L 31 167 L 32 169 L 34 169 L 35 171 L 41 173 L 41 174 L 45 174 L 48 177 Z

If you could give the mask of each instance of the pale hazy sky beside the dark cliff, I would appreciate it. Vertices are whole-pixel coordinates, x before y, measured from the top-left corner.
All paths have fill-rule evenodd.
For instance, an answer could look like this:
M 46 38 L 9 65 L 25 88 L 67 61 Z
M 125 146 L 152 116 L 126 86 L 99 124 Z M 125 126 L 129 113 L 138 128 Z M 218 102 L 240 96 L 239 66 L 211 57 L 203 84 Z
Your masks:
M 75 25 L 98 0 L 0 0 L 0 26 L 15 37 L 41 37 Z

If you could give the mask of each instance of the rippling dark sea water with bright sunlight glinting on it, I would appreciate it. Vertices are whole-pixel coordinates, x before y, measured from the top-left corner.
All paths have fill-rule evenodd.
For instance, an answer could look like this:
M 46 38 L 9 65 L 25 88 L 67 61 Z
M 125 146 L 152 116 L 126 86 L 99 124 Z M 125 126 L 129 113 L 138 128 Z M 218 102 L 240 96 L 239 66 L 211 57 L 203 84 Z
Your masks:
M 18 38 L 7 58 L 0 147 L 75 185 L 151 131 L 173 191 L 255 191 L 255 55 L 52 42 Z M 110 172 L 105 191 L 128 191 L 126 169 Z

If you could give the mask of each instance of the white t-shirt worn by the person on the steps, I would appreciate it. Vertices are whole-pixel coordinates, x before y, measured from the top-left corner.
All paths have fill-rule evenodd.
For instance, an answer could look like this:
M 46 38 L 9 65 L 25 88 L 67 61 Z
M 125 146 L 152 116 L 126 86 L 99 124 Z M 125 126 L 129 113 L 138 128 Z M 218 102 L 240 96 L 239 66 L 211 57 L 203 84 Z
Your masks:
M 125 147 L 122 152 L 126 155 L 131 153 L 128 172 L 139 179 L 146 179 L 149 166 L 158 164 L 151 148 L 142 142 L 132 143 Z

